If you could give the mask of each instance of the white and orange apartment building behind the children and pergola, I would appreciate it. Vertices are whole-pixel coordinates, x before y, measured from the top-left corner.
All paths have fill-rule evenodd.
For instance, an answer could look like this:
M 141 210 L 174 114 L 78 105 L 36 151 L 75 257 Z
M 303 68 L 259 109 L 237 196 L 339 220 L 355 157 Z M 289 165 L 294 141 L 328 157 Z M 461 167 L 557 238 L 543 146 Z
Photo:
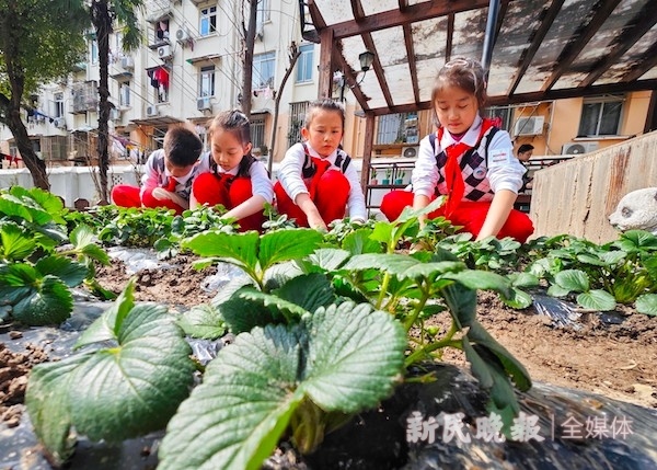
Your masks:
M 162 146 L 166 128 L 191 123 L 205 138 L 206 123 L 216 113 L 252 101 L 252 136 L 256 153 L 280 160 L 300 137 L 309 101 L 318 96 L 319 45 L 303 41 L 299 2 L 261 0 L 253 57 L 253 93 L 242 96 L 243 2 L 148 0 L 140 16 L 142 45 L 124 51 L 120 34 L 111 38 L 110 89 L 111 158 L 114 163 L 140 162 Z M 38 154 L 54 165 L 95 162 L 97 127 L 99 51 L 93 33 L 88 54 L 66 80 L 44 84 L 31 96 L 34 113 L 25 123 Z M 284 90 L 289 47 L 301 55 Z M 334 98 L 347 111 L 345 149 L 362 156 L 365 119 L 339 71 Z M 275 99 L 280 95 L 277 128 L 273 129 Z M 394 93 L 394 90 L 393 90 Z M 499 118 L 515 144 L 532 144 L 534 154 L 577 154 L 592 151 L 645 131 L 654 113 L 654 92 L 589 96 L 496 106 L 486 110 Z M 377 119 L 374 157 L 413 157 L 419 139 L 433 129 L 428 111 L 390 114 Z M 276 148 L 270 149 L 276 131 Z M 13 138 L 0 126 L 0 151 L 14 158 Z M 7 168 L 7 161 L 3 162 Z M 10 164 L 12 161 L 10 160 Z

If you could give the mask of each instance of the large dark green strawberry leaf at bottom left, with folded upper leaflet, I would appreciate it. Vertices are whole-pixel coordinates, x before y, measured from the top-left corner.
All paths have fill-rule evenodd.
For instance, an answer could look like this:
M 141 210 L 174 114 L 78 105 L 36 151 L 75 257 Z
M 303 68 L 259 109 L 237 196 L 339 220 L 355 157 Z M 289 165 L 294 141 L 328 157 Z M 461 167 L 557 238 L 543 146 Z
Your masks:
M 83 352 L 35 366 L 25 404 L 49 461 L 59 467 L 76 437 L 119 443 L 164 427 L 189 393 L 195 366 L 163 306 L 135 306 L 134 283 L 80 336 Z

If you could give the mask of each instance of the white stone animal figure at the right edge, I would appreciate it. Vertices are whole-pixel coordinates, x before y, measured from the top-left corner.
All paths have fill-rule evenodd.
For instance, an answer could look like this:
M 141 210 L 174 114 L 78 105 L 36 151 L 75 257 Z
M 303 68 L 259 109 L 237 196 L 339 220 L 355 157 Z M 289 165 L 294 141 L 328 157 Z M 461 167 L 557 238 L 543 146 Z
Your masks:
M 627 193 L 609 216 L 609 223 L 621 231 L 646 230 L 657 234 L 657 187 Z

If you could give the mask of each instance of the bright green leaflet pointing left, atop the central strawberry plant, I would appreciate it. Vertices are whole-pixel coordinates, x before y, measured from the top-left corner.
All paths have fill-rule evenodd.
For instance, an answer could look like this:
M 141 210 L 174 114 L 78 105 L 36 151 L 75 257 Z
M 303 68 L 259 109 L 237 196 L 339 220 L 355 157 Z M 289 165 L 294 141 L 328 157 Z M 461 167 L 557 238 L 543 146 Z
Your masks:
M 226 259 L 239 266 L 255 270 L 258 242 L 260 236 L 254 231 L 245 233 L 203 232 L 184 240 L 182 247 L 188 248 L 199 256 Z

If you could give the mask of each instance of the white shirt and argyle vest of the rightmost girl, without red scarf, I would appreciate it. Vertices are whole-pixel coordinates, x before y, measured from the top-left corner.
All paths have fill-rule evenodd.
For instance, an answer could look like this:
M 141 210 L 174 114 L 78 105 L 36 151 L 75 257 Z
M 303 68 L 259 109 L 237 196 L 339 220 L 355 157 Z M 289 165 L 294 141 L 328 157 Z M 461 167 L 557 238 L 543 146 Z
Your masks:
M 482 123 L 483 119 L 477 116 L 460 141 L 475 146 Z M 492 200 L 495 193 L 500 190 L 509 190 L 517 194 L 522 187 L 522 175 L 527 170 L 514 156 L 514 145 L 509 134 L 506 130 L 497 130 L 487 144 L 491 131 L 492 129 L 484 135 L 468 162 L 462 162 L 462 158 L 459 157 L 465 183 L 463 200 Z M 445 161 L 443 149 L 456 142 L 457 140 L 447 130 L 440 141 L 436 140 L 435 148 L 429 136 L 422 139 L 412 174 L 413 192 L 416 195 L 431 197 L 436 188 L 439 194 L 448 193 L 445 164 L 439 167 L 436 158 L 439 157 L 440 161 Z

